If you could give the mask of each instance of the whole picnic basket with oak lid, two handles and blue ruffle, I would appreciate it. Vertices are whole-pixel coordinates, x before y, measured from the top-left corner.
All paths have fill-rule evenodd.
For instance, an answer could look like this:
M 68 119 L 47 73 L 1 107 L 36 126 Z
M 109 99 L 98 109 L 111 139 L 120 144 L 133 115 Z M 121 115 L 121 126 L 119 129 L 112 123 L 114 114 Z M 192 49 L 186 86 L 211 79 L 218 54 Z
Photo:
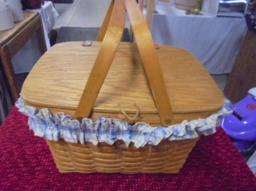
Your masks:
M 136 43 L 120 42 L 125 10 Z M 135 0 L 113 0 L 97 40 L 82 44 L 48 50 L 16 102 L 59 172 L 179 172 L 223 114 L 208 72 L 188 51 L 155 45 Z

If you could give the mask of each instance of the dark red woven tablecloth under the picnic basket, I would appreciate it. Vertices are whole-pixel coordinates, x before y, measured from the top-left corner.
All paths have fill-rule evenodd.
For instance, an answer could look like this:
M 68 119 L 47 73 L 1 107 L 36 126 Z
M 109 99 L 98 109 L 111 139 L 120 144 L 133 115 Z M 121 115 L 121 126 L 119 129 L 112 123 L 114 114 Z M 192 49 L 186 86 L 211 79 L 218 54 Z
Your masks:
M 256 178 L 221 128 L 200 138 L 178 174 L 61 174 L 14 107 L 0 127 L 0 191 L 13 190 L 256 191 Z

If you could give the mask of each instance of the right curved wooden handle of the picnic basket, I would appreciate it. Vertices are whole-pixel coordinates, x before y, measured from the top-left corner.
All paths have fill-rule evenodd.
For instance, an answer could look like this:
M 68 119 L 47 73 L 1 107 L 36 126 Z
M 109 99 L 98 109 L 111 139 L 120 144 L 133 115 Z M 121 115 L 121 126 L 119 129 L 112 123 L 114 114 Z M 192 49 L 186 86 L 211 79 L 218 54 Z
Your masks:
M 146 20 L 135 0 L 125 0 L 125 5 L 162 125 L 174 124 L 161 66 Z

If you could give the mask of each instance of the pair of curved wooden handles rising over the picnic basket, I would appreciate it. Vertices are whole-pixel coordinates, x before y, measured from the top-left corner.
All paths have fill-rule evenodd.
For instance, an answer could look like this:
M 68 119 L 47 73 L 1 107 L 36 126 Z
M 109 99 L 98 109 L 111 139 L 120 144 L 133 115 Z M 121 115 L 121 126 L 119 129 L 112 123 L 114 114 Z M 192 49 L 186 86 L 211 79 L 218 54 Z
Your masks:
M 101 49 L 94 62 L 73 119 L 81 121 L 82 118 L 88 118 L 92 111 L 121 41 L 125 25 L 125 7 L 162 125 L 174 124 L 173 112 L 162 76 L 161 66 L 155 51 L 155 45 L 148 25 L 135 0 L 113 0 L 110 4 L 97 37 L 97 40 L 103 40 Z

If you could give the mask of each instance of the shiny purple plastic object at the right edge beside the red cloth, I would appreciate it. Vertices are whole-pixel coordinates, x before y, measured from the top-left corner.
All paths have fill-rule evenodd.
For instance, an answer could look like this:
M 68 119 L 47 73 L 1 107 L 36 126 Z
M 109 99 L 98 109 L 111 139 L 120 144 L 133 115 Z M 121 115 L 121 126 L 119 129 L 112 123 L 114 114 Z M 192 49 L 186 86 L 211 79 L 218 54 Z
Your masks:
M 256 88 L 230 107 L 233 113 L 222 117 L 221 126 L 230 137 L 238 140 L 256 140 Z

